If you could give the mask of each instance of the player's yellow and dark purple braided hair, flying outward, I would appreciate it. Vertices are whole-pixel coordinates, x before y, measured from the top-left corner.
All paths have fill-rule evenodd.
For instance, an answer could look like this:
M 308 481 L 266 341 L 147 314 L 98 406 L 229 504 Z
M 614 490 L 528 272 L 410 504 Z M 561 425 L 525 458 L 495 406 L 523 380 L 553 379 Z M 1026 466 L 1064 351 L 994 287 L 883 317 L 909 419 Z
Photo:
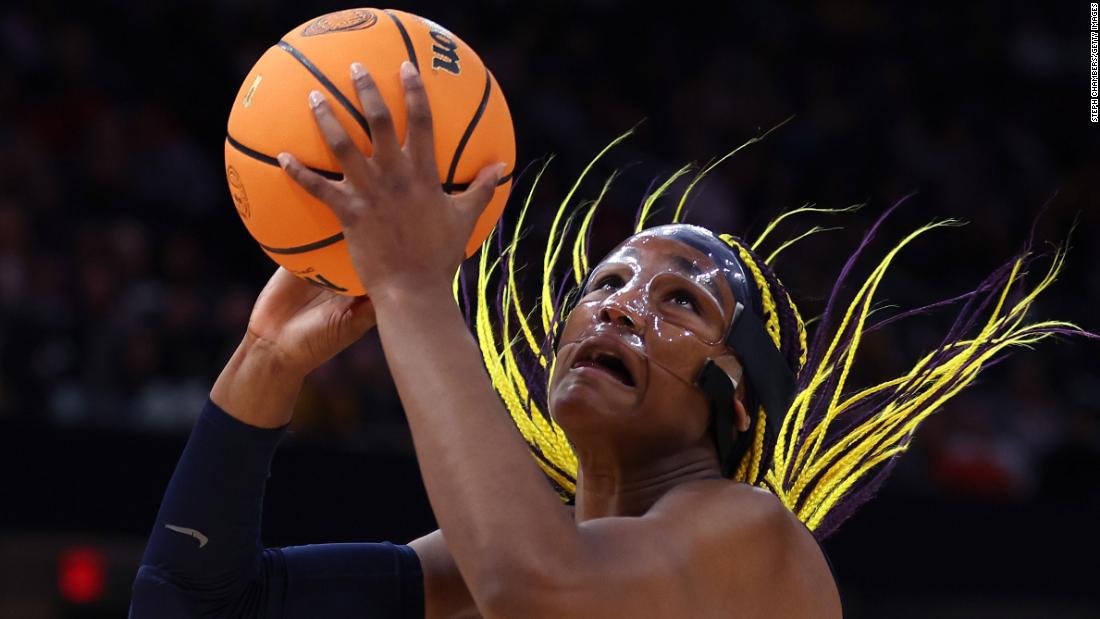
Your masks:
M 483 244 L 476 267 L 466 266 L 454 278 L 455 299 L 464 308 L 493 385 L 536 462 L 563 500 L 570 500 L 575 493 L 578 463 L 564 432 L 550 418 L 548 409 L 554 342 L 573 297 L 591 270 L 587 255 L 591 224 L 615 175 L 603 184 L 595 199 L 574 205 L 574 196 L 600 159 L 630 133 L 601 151 L 558 206 L 543 252 L 541 290 L 534 307 L 520 299 L 516 252 L 535 189 L 549 161 L 537 172 L 522 200 L 510 240 L 498 226 Z M 688 197 L 703 177 L 761 137 L 700 169 L 680 196 L 672 222 L 681 222 Z M 678 169 L 642 200 L 635 220 L 636 233 L 646 229 L 657 201 L 692 169 L 692 166 Z M 758 406 L 750 411 L 749 429 L 738 436 L 741 449 L 735 453 L 740 455 L 730 478 L 773 493 L 818 540 L 828 537 L 873 496 L 897 457 L 909 449 L 916 428 L 972 384 L 983 367 L 1002 358 L 1010 349 L 1030 347 L 1054 335 L 1098 338 L 1066 321 L 1026 320 L 1027 310 L 1054 283 L 1065 261 L 1065 251 L 1055 250 L 1045 274 L 1028 287 L 1023 280 L 1024 267 L 1037 257 L 1030 241 L 972 291 L 872 320 L 876 290 L 898 254 L 925 233 L 958 225 L 954 220 L 934 221 L 909 233 L 879 259 L 855 295 L 844 294 L 856 262 L 883 221 L 908 198 L 887 209 L 864 235 L 837 277 L 812 336 L 771 265 L 784 250 L 826 229 L 811 228 L 781 243 L 767 257 L 762 257 L 761 247 L 784 220 L 805 213 L 848 212 L 862 205 L 793 209 L 772 220 L 751 242 L 730 234 L 718 235 L 736 252 L 746 274 L 751 275 L 760 295 L 763 328 L 796 379 L 794 398 L 787 410 L 769 411 Z M 560 268 L 563 258 L 568 261 L 566 268 Z M 849 388 L 848 376 L 864 335 L 953 303 L 961 305 L 954 323 L 941 343 L 916 360 L 908 372 L 878 384 Z M 768 422 L 770 416 L 776 419 Z M 777 420 L 780 430 L 771 436 L 766 428 Z

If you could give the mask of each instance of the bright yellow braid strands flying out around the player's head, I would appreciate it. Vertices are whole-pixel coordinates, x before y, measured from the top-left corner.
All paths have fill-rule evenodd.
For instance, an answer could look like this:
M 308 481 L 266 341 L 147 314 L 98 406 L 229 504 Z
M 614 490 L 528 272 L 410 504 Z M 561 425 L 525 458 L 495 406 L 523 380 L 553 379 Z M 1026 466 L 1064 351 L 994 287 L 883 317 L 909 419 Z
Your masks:
M 542 256 L 543 272 L 541 281 L 538 283 L 540 295 L 534 307 L 525 309 L 520 300 L 515 254 L 521 237 L 522 220 L 531 203 L 538 178 L 522 205 L 519 225 L 507 247 L 497 258 L 488 259 L 487 254 L 492 251 L 492 244 L 486 240 L 477 263 L 477 284 L 474 287 L 476 301 L 472 308 L 474 310 L 472 328 L 477 336 L 482 357 L 513 421 L 530 446 L 538 465 L 557 485 L 563 499 L 568 499 L 575 491 L 576 456 L 562 429 L 550 419 L 549 411 L 546 410 L 547 402 L 532 399 L 529 388 L 532 375 L 522 368 L 531 365 L 541 368 L 543 374 L 539 376 L 544 379 L 543 393 L 549 390 L 557 358 L 554 351 L 543 347 L 543 339 L 556 333 L 564 320 L 564 317 L 560 316 L 561 303 L 556 298 L 560 283 L 554 279 L 553 272 L 564 252 L 571 258 L 570 275 L 573 284 L 580 284 L 590 273 L 588 247 L 584 237 L 593 223 L 597 207 L 610 187 L 610 179 L 603 185 L 595 200 L 576 207 L 571 206 L 571 201 L 581 180 L 587 176 L 596 162 L 627 135 L 629 132 L 603 150 L 584 168 L 581 179 L 571 187 L 566 198 L 558 205 Z M 759 137 L 750 140 L 718 161 L 728 158 L 757 141 Z M 680 220 L 688 195 L 713 167 L 714 165 L 705 166 L 689 184 L 674 209 L 673 221 Z M 543 166 L 542 170 L 544 169 Z M 650 217 L 657 212 L 658 200 L 690 169 L 689 166 L 680 168 L 657 191 L 647 197 L 642 212 L 639 213 L 636 231 L 645 228 Z M 539 177 L 542 170 L 539 172 Z M 788 211 L 769 223 L 760 237 L 750 244 L 729 234 L 719 235 L 737 251 L 760 291 L 763 309 L 761 318 L 772 343 L 782 351 L 784 340 L 791 341 L 792 336 L 796 338 L 799 364 L 794 369 L 801 377 L 800 384 L 805 384 L 805 387 L 795 394 L 789 410 L 766 411 L 762 407 L 758 408 L 749 449 L 737 463 L 733 478 L 768 488 L 814 531 L 825 522 L 834 508 L 844 502 L 844 498 L 860 480 L 867 478 L 876 467 L 903 453 L 917 425 L 961 389 L 972 384 L 979 371 L 990 360 L 1002 355 L 1010 347 L 1028 347 L 1057 332 L 1086 333 L 1077 325 L 1063 321 L 1033 323 L 1024 321 L 1036 297 L 1053 284 L 1060 272 L 1065 253 L 1058 250 L 1042 281 L 1030 291 L 1025 291 L 1021 300 L 1010 305 L 1009 291 L 1022 277 L 1026 258 L 1018 256 L 1007 280 L 999 284 L 1000 298 L 991 316 L 976 335 L 949 342 L 938 351 L 926 354 L 901 376 L 854 393 L 846 391 L 846 382 L 873 307 L 876 290 L 886 277 L 891 262 L 917 236 L 937 228 L 955 225 L 956 222 L 948 220 L 922 226 L 903 237 L 886 254 L 870 276 L 859 286 L 848 306 L 840 311 L 839 322 L 826 325 L 831 333 L 822 338 L 822 342 L 826 344 L 823 346 L 825 350 L 815 353 L 813 367 L 804 367 L 809 354 L 806 324 L 785 289 L 782 286 L 773 288 L 769 285 L 769 278 L 779 281 L 770 272 L 770 265 L 780 252 L 826 229 L 814 226 L 807 232 L 796 234 L 767 254 L 768 257 L 765 259 L 755 256 L 765 236 L 776 231 L 781 221 L 792 215 L 848 212 L 859 206 L 824 209 L 809 205 Z M 579 225 L 574 226 L 574 222 L 579 222 Z M 566 240 L 569 234 L 576 235 L 572 243 Z M 501 272 L 499 275 L 495 275 L 497 270 Z M 766 272 L 768 277 L 765 275 Z M 494 298 L 492 292 L 494 287 L 490 281 L 494 278 L 499 279 L 498 286 L 503 289 L 503 307 L 498 307 L 497 312 L 504 312 L 495 319 L 490 311 L 490 299 Z M 454 294 L 458 297 L 458 279 L 454 281 Z M 793 316 L 780 316 L 776 297 L 780 294 L 783 295 L 781 300 L 785 302 L 785 307 L 791 308 Z M 783 329 L 795 329 L 796 333 L 783 333 Z M 522 365 L 520 354 L 529 357 L 530 362 Z M 817 358 L 818 354 L 821 358 Z M 828 434 L 838 419 L 845 418 L 846 414 L 850 418 L 860 411 L 864 416 L 858 418 L 858 423 L 854 423 L 843 435 Z M 873 414 L 868 414 L 868 411 Z M 773 445 L 766 444 L 768 436 L 765 429 L 768 414 L 782 417 L 779 435 L 773 438 L 776 441 Z M 840 510 L 840 513 L 843 516 L 844 510 Z

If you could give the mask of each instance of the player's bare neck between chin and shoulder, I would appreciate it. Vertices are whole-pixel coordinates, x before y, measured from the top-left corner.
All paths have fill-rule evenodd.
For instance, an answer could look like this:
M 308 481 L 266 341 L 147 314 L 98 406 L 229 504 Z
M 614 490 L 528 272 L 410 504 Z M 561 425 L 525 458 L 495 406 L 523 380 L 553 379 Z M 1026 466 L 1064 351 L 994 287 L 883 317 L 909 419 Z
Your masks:
M 626 463 L 607 451 L 578 456 L 578 522 L 642 516 L 673 487 L 721 476 L 713 449 L 694 447 L 645 463 Z

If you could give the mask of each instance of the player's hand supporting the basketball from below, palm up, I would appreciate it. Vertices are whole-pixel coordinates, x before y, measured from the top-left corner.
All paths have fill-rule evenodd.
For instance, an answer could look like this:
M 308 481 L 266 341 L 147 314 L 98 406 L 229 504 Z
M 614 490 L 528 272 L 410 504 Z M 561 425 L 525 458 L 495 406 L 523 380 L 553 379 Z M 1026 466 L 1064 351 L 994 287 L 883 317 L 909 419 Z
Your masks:
M 366 297 L 344 297 L 279 267 L 260 292 L 248 338 L 305 376 L 350 346 L 375 324 Z

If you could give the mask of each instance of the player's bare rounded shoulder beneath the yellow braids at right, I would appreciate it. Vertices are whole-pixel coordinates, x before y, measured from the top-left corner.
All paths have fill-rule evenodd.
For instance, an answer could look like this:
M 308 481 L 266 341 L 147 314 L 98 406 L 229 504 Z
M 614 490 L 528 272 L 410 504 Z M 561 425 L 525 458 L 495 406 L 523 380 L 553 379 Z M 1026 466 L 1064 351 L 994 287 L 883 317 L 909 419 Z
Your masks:
M 681 519 L 701 599 L 743 617 L 840 617 L 832 571 L 809 529 L 770 491 L 684 484 L 654 506 Z

